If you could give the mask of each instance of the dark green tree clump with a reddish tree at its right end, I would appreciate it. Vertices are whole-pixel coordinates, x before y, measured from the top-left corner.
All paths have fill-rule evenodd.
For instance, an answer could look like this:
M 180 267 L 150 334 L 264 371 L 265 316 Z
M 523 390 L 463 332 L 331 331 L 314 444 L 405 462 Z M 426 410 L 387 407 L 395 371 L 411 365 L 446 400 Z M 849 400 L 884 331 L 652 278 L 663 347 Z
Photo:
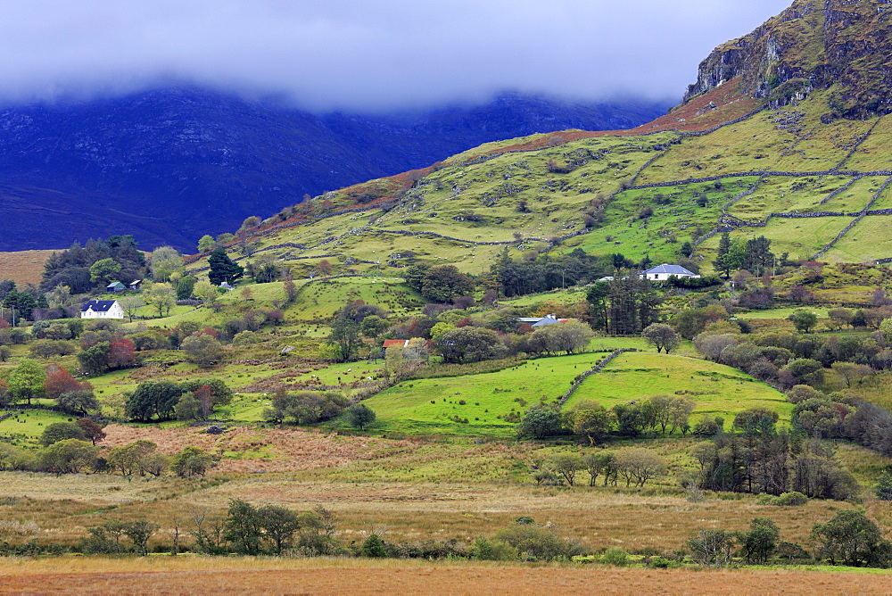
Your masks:
M 219 378 L 192 379 L 183 383 L 140 383 L 126 396 L 125 409 L 132 420 L 207 419 L 217 406 L 232 401 L 232 391 Z

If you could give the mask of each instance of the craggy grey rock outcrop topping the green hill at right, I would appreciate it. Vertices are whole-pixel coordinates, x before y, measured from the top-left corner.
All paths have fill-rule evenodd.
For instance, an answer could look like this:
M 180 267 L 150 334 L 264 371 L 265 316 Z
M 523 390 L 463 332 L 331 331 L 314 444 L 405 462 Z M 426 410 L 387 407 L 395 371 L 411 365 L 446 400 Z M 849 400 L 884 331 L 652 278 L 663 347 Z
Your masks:
M 892 112 L 892 0 L 795 0 L 700 63 L 695 95 L 740 77 L 740 91 L 779 107 L 830 89 L 825 120 Z

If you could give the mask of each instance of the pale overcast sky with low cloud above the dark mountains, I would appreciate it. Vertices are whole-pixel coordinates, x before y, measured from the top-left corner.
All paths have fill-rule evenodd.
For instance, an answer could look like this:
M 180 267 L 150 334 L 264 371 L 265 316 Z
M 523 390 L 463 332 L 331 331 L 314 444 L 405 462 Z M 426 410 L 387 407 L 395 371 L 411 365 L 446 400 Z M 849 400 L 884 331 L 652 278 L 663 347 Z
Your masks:
M 185 80 L 314 111 L 681 98 L 791 0 L 0 0 L 0 101 Z

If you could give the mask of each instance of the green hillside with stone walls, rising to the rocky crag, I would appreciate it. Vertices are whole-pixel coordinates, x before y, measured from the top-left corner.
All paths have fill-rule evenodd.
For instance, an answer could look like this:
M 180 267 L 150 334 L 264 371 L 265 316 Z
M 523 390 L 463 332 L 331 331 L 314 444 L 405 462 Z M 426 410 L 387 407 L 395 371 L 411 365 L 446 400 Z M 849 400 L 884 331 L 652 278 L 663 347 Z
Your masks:
M 892 262 L 892 114 L 859 103 L 885 76 L 867 79 L 864 69 L 888 50 L 855 49 L 856 39 L 880 39 L 892 18 L 885 5 L 827 0 L 819 15 L 797 2 L 717 48 L 685 101 L 648 124 L 480 145 L 293 205 L 243 231 L 230 251 L 295 275 L 312 275 L 323 258 L 341 272 L 425 261 L 479 275 L 505 249 L 515 258 L 575 249 L 690 258 L 708 271 L 727 231 L 732 241 L 764 236 L 794 261 Z M 829 41 L 847 36 L 848 62 Z M 805 64 L 806 50 L 821 61 Z M 764 79 L 765 55 L 776 79 Z M 820 79 L 831 68 L 838 76 Z M 778 99 L 806 78 L 814 82 Z M 851 109 L 832 112 L 843 96 Z

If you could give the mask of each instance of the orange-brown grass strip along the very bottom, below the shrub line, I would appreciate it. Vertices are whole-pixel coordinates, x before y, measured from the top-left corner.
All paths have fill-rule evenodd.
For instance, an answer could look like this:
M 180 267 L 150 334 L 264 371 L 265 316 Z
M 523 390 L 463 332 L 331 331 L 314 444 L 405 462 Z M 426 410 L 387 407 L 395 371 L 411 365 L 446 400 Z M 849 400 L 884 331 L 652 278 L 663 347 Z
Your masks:
M 657 570 L 368 559 L 0 560 L 0 593 L 881 594 L 888 571 Z

